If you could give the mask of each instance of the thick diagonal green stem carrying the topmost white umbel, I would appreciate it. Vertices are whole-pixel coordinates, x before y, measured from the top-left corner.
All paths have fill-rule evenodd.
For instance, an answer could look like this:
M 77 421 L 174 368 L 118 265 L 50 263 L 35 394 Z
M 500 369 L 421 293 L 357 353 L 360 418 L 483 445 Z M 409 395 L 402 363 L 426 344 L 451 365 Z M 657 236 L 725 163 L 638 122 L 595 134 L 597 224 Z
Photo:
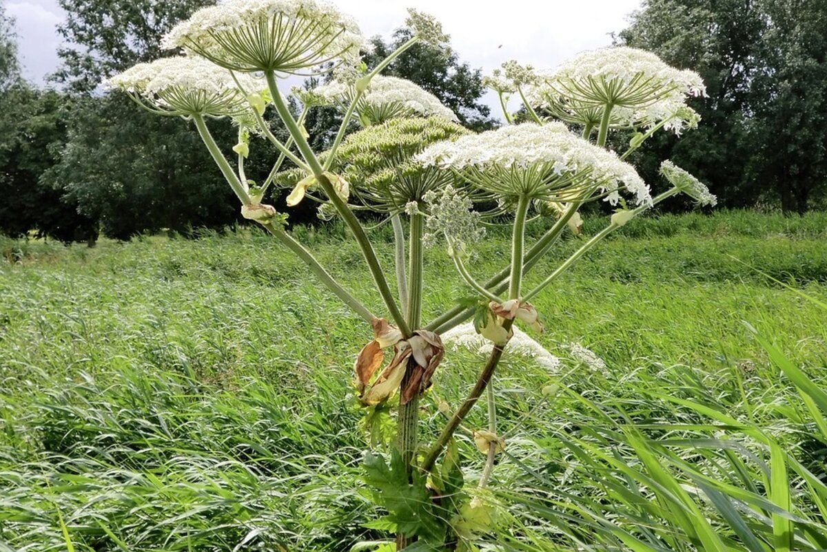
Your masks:
M 287 104 L 284 102 L 284 98 L 281 97 L 279 87 L 275 83 L 275 74 L 272 71 L 267 71 L 265 72 L 265 77 L 267 79 L 267 85 L 270 88 L 270 95 L 273 97 L 273 104 L 275 105 L 276 112 L 279 113 L 279 117 L 281 117 L 281 120 L 284 121 L 284 125 L 287 126 L 287 130 L 290 135 L 293 136 L 296 146 L 299 148 L 304 160 L 307 161 L 310 170 L 313 172 L 313 176 L 316 177 L 319 185 L 322 186 L 324 193 L 327 195 L 327 199 L 329 199 L 333 206 L 336 207 L 337 212 L 339 212 L 339 215 L 345 221 L 345 224 L 347 224 L 347 227 L 350 228 L 353 236 L 356 238 L 356 242 L 361 248 L 362 255 L 365 256 L 365 260 L 367 261 L 370 274 L 373 276 L 376 283 L 376 288 L 379 289 L 379 293 L 385 301 L 385 306 L 388 307 L 388 310 L 390 311 L 390 316 L 394 319 L 396 326 L 399 327 L 399 331 L 401 331 L 405 337 L 410 337 L 410 326 L 408 326 L 402 312 L 399 310 L 399 305 L 396 304 L 394 293 L 390 290 L 388 281 L 385 278 L 385 273 L 382 271 L 382 267 L 379 263 L 379 259 L 376 257 L 373 246 L 370 245 L 370 240 L 368 240 L 365 229 L 361 226 L 361 223 L 356 218 L 356 215 L 353 214 L 351 208 L 347 207 L 347 203 L 344 202 L 336 193 L 336 190 L 333 188 L 333 185 L 327 176 L 324 175 L 322 164 L 319 163 L 318 157 L 316 157 L 313 153 L 313 149 L 308 144 L 308 140 L 304 137 L 304 134 L 296 124 L 293 115 L 290 113 Z

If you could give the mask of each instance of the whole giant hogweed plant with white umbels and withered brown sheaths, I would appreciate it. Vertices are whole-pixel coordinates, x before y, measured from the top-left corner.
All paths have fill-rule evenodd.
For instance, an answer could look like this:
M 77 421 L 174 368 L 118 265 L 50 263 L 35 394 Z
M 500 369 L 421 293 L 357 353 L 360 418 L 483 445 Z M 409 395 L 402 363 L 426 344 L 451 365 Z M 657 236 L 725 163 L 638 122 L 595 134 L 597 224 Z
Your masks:
M 678 193 L 714 204 L 705 186 L 669 161 L 662 174 L 670 187 L 652 195 L 625 159 L 662 129 L 680 133 L 698 117 L 686 98 L 704 93 L 697 74 L 663 64 L 657 56 L 629 48 L 606 48 L 579 55 L 555 71 L 534 71 L 515 62 L 485 79 L 500 97 L 506 125 L 472 134 L 433 94 L 404 79 L 383 77 L 390 62 L 418 42 L 442 45 L 447 36 L 433 17 L 409 11 L 413 36 L 374 69 L 361 63 L 366 40 L 351 18 L 314 0 L 229 0 L 195 12 L 165 37 L 184 55 L 138 64 L 108 81 L 138 104 L 162 116 L 191 121 L 241 204 L 241 215 L 256 221 L 299 256 L 318 280 L 366 322 L 373 339 L 354 351 L 356 398 L 365 409 L 371 452 L 365 481 L 386 512 L 370 523 L 396 533 L 392 540 L 363 543 L 360 550 L 478 550 L 476 538 L 494 528 L 494 505 L 484 490 L 495 457 L 505 446 L 497 434 L 491 386 L 509 351 L 514 324 L 543 331 L 530 302 L 601 240 L 641 212 Z M 327 84 L 294 89 L 298 117 L 284 96 L 289 75 L 323 75 Z M 505 107 L 518 96 L 528 122 Z M 308 144 L 304 118 L 321 105 L 342 110 L 342 125 L 323 152 Z M 279 140 L 265 120 L 275 109 L 287 131 Z M 208 121 L 230 117 L 238 128 L 235 162 L 213 140 Z M 362 130 L 346 137 L 351 120 Z M 633 131 L 622 155 L 606 148 L 610 132 Z M 246 178 L 251 138 L 259 136 L 278 152 L 261 183 Z M 284 169 L 289 161 L 293 167 Z M 287 214 L 263 202 L 274 183 L 289 184 L 286 206 L 318 202 L 319 216 L 339 217 L 364 255 L 382 303 L 376 313 L 348 291 L 313 253 L 285 230 Z M 608 225 L 533 288 L 523 278 L 566 230 L 580 233 L 579 210 L 603 200 L 617 206 Z M 484 207 L 484 208 L 483 208 Z M 369 228 L 356 212 L 390 221 L 395 266 L 380 263 Z M 487 279 L 473 269 L 475 245 L 484 223 L 509 220 L 510 251 L 503 269 Z M 538 240 L 526 243 L 532 217 L 553 217 Z M 407 224 L 404 224 L 407 222 Z M 428 246 L 447 245 L 471 297 L 425 321 L 423 258 Z M 391 286 L 395 280 L 396 291 Z M 442 402 L 447 422 L 437 440 L 422 442 L 420 397 L 432 387 L 445 349 L 440 335 L 473 319 L 492 342 L 490 355 L 464 402 L 455 411 Z M 386 361 L 386 358 L 387 361 Z M 489 424 L 476 431 L 462 422 L 486 393 Z M 395 435 L 387 435 L 395 411 Z M 469 431 L 485 454 L 476 488 L 466 488 L 455 431 Z

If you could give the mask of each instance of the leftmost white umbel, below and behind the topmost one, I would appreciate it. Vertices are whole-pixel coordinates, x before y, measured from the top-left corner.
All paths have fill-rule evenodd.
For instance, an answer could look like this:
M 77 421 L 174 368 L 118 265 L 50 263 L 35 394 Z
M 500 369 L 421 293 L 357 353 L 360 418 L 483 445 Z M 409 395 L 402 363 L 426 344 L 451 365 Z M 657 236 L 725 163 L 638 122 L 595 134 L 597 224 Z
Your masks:
M 266 88 L 251 75 L 238 75 L 247 92 Z M 107 88 L 117 88 L 170 115 L 239 117 L 250 107 L 227 69 L 207 59 L 177 56 L 136 64 L 109 79 Z

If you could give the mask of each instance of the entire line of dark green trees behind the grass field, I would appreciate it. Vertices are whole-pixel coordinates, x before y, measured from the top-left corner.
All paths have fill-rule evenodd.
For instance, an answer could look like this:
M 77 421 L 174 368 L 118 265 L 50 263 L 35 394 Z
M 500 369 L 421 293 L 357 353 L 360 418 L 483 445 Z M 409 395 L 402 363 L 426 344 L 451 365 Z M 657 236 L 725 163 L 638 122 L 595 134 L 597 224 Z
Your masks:
M 186 121 L 152 116 L 101 88 L 132 64 L 169 55 L 159 48 L 161 36 L 210 3 L 60 0 L 65 46 L 47 88 L 22 79 L 13 21 L 0 4 L 0 233 L 93 243 L 100 233 L 125 240 L 237 221 L 232 193 Z M 374 38 L 368 65 L 409 32 Z M 638 153 L 644 178 L 657 178 L 654 159 L 669 157 L 727 207 L 804 212 L 823 204 L 827 0 L 644 0 L 616 41 L 696 70 L 708 87 L 693 105 L 703 117 L 698 130 L 683 140 L 661 133 Z M 385 73 L 434 93 L 472 129 L 497 124 L 480 102 L 480 70 L 450 49 L 416 45 Z M 331 139 L 337 117 L 332 109 L 311 113 L 313 145 Z M 223 143 L 235 142 L 229 122 L 215 131 Z M 272 160 L 251 156 L 248 176 L 263 178 Z M 291 211 L 290 220 L 313 221 L 314 214 Z

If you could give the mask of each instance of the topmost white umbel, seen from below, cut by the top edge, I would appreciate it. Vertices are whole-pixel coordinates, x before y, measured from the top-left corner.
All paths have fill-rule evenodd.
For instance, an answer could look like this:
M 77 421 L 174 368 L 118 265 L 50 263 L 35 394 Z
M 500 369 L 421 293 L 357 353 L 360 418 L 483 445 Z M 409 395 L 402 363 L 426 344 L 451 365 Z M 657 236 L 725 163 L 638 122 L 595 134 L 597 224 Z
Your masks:
M 229 0 L 174 26 L 163 45 L 227 69 L 304 74 L 328 61 L 358 64 L 365 42 L 356 21 L 328 2 Z

